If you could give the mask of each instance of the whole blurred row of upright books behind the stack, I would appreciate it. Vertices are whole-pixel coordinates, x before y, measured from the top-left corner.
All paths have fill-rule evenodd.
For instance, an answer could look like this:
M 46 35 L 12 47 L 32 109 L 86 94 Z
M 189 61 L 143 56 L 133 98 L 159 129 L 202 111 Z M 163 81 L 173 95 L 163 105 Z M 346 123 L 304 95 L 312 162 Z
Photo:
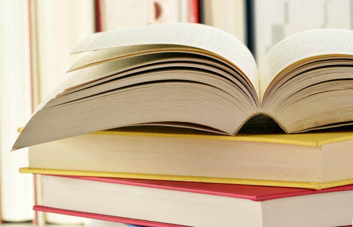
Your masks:
M 77 59 L 69 52 L 85 36 L 174 22 L 223 29 L 242 41 L 260 65 L 274 44 L 293 33 L 353 29 L 353 0 L 0 0 L 2 223 L 89 225 L 85 219 L 32 211 L 41 200 L 41 183 L 18 173 L 27 166 L 27 151 L 10 152 L 17 128 L 69 76 L 65 72 Z

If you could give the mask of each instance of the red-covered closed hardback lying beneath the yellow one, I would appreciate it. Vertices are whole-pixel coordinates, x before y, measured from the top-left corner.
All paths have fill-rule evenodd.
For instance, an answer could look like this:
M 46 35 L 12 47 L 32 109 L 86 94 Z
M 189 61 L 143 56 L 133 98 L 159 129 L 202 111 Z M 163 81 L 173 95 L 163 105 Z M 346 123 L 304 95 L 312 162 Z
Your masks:
M 353 185 L 312 190 L 105 177 L 42 178 L 43 206 L 173 227 L 334 227 L 351 225 L 353 218 Z

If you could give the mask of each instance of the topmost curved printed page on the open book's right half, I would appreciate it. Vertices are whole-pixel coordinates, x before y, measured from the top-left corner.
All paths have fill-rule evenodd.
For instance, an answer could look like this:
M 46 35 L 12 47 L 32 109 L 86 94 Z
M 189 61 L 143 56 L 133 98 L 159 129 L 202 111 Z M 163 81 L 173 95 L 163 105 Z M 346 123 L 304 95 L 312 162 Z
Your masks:
M 264 59 L 260 68 L 260 96 L 280 72 L 300 60 L 320 55 L 353 55 L 353 31 L 314 29 L 280 41 Z

